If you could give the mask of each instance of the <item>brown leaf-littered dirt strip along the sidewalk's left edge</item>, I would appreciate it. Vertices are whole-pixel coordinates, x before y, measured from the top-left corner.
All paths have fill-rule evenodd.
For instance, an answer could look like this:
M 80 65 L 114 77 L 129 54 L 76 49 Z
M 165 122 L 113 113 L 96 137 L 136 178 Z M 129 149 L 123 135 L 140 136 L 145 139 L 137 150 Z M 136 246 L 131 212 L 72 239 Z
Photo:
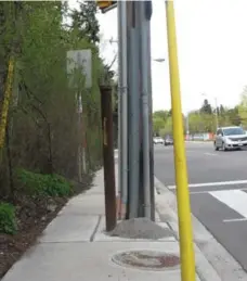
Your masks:
M 90 188 L 92 177 L 76 184 L 76 194 Z M 67 197 L 31 197 L 17 194 L 15 199 L 18 232 L 15 235 L 0 233 L 0 278 L 30 247 L 49 222 L 66 204 Z

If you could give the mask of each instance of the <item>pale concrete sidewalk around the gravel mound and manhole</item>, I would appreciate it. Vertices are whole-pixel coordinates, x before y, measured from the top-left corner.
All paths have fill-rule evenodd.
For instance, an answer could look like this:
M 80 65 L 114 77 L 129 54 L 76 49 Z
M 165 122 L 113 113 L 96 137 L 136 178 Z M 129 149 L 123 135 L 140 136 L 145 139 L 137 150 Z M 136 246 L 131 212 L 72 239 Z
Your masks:
M 179 256 L 178 223 L 172 210 L 173 197 L 156 182 L 158 194 L 157 223 L 173 228 L 174 235 L 160 240 L 131 240 L 104 233 L 103 170 L 96 174 L 94 186 L 87 193 L 72 199 L 48 226 L 32 246 L 5 274 L 2 281 L 179 281 L 179 267 L 166 270 L 143 270 L 119 266 L 116 254 L 126 251 L 155 251 Z M 153 253 L 153 252 L 152 252 Z M 197 280 L 220 281 L 216 270 L 196 246 Z M 155 263 L 155 261 L 154 261 Z M 235 279 L 232 279 L 232 281 Z M 244 279 L 240 279 L 244 280 Z

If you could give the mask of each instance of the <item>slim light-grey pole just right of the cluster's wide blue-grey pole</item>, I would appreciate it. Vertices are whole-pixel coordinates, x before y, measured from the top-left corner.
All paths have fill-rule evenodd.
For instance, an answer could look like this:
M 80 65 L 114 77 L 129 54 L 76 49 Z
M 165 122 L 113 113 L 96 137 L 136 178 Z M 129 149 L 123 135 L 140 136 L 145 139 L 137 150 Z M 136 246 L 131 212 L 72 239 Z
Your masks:
M 143 191 L 144 216 L 151 218 L 151 167 L 150 167 L 150 87 L 148 87 L 148 18 L 146 17 L 146 2 L 140 1 L 140 31 L 141 31 L 141 85 L 142 85 L 142 126 L 143 126 Z

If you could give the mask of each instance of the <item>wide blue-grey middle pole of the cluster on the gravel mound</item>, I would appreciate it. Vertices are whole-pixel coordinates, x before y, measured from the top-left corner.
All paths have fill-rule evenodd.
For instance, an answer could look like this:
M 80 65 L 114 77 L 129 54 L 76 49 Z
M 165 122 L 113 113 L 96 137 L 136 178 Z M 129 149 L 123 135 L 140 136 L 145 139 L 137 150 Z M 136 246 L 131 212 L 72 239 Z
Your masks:
M 128 218 L 139 215 L 140 184 L 140 67 L 139 30 L 136 26 L 136 7 L 139 2 L 127 2 L 128 23 L 128 135 L 129 135 L 129 178 L 128 178 Z

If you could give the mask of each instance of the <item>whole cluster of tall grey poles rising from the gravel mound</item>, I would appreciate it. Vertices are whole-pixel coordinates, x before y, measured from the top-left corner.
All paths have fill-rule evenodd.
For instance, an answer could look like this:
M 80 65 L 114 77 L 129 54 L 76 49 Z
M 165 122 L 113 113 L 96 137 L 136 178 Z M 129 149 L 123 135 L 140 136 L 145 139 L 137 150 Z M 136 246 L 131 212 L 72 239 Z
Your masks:
M 102 11 L 115 1 L 98 1 Z M 118 1 L 119 195 L 126 218 L 155 218 L 150 20 L 152 1 Z M 128 89 L 127 89 L 128 86 Z

